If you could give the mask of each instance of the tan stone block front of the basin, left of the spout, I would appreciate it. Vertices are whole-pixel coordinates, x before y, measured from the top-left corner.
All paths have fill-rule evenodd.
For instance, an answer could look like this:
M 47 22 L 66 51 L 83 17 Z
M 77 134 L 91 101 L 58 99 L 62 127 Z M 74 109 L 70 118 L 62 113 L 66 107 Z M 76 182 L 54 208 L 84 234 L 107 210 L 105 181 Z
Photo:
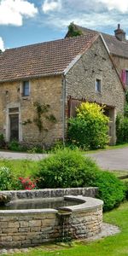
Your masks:
M 56 212 L 0 213 L 0 247 L 32 247 L 55 240 Z

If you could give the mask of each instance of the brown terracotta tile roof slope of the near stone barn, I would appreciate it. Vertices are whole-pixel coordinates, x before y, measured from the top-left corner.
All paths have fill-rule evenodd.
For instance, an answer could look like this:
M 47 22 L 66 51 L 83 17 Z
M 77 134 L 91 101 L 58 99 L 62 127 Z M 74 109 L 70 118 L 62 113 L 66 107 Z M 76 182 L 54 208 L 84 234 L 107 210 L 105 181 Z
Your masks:
M 57 75 L 96 39 L 95 33 L 65 38 L 20 48 L 0 54 L 0 82 Z

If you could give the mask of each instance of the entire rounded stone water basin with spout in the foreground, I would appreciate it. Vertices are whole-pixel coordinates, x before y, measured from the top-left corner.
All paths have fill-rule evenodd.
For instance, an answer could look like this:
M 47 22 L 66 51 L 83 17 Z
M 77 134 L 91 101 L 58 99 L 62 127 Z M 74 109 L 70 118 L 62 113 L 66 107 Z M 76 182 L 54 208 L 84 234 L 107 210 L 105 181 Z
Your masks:
M 60 194 L 59 194 L 60 190 Z M 90 189 L 78 189 L 87 194 Z M 93 194 L 94 193 L 94 189 Z M 68 191 L 68 193 L 67 193 Z M 70 234 L 72 238 L 88 238 L 100 232 L 102 228 L 102 201 L 76 194 L 77 189 L 39 189 L 33 191 L 3 191 L 12 199 L 32 198 L 38 195 L 56 195 L 67 200 L 81 201 L 72 207 L 32 210 L 1 210 L 0 211 L 0 247 L 34 247 L 46 241 L 55 241 Z M 33 194 L 33 195 L 32 195 Z M 92 191 L 90 190 L 90 194 Z M 45 196 L 45 197 L 47 197 Z

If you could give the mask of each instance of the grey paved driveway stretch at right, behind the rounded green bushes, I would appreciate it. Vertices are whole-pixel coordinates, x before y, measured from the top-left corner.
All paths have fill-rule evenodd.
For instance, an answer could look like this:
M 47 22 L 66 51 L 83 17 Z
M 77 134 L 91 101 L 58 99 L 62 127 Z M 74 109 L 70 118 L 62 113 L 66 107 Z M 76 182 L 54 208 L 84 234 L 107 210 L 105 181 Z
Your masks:
M 86 154 L 104 170 L 128 171 L 128 148 L 117 148 Z

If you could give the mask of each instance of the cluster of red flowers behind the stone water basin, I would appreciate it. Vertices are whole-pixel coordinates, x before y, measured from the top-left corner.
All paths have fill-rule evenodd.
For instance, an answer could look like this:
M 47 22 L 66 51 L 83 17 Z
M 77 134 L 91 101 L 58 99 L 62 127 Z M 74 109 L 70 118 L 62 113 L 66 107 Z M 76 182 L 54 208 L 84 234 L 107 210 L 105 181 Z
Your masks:
M 31 180 L 30 177 L 19 177 L 21 189 L 36 189 L 36 180 Z

